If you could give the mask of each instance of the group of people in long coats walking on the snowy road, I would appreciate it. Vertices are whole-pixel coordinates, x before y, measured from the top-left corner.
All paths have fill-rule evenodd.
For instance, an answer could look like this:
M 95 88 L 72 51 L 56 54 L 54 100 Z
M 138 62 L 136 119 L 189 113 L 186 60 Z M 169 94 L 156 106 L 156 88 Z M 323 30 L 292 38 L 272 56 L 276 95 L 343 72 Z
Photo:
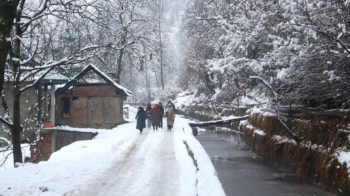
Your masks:
M 175 120 L 175 105 L 171 100 L 168 100 L 165 108 L 162 106 L 162 102 L 154 104 L 153 107 L 151 103 L 148 103 L 146 111 L 142 106 L 139 106 L 135 117 L 137 119 L 136 129 L 140 130 L 140 134 L 142 134 L 142 130 L 146 128 L 147 121 L 148 129 L 151 129 L 151 126 L 153 126 L 153 131 L 158 131 L 158 127 L 163 128 L 163 118 L 167 118 L 167 131 L 172 131 Z

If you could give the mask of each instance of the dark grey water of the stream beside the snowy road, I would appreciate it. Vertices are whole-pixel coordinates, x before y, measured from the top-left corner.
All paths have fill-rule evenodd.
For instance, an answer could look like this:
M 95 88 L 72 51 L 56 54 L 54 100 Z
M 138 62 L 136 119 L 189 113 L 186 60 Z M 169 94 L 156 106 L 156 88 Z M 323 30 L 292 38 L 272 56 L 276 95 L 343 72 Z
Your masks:
M 227 196 L 334 196 L 293 173 L 264 165 L 234 131 L 200 132 Z M 215 158 L 218 156 L 218 158 Z

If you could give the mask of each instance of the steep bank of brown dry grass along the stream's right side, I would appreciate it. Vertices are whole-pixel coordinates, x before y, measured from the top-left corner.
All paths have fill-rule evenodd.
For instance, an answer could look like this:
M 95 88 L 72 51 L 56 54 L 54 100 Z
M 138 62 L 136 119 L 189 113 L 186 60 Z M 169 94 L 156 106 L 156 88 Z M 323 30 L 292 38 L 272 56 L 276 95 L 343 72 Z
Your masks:
M 252 113 L 243 122 L 243 139 L 266 162 L 291 169 L 300 179 L 321 184 L 339 196 L 350 195 L 346 164 L 339 163 L 337 150 L 349 145 L 349 133 L 339 132 L 337 119 L 285 119 L 284 123 L 302 139 L 288 137 L 275 115 Z

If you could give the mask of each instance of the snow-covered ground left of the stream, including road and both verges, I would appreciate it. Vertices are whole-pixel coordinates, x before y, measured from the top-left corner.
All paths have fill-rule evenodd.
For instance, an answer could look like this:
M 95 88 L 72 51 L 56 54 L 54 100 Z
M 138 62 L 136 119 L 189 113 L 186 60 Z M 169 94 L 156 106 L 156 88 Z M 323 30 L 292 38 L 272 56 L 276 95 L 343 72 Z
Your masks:
M 131 123 L 96 130 L 99 134 L 94 139 L 65 146 L 48 161 L 1 171 L 0 195 L 225 195 L 187 119 L 177 116 L 172 132 L 145 129 L 139 135 L 136 111 L 129 109 Z M 197 167 L 184 140 L 194 153 Z

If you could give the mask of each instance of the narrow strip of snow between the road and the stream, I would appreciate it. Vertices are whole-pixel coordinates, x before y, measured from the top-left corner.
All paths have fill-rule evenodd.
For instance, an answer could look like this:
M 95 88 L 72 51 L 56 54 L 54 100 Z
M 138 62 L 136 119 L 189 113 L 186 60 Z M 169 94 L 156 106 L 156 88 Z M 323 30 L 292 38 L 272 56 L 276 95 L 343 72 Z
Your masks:
M 224 189 L 217 177 L 216 170 L 203 146 L 193 136 L 192 129 L 188 125 L 188 119 L 177 118 L 176 123 L 180 123 L 183 130 L 176 130 L 181 134 L 183 141 L 186 141 L 190 150 L 194 154 L 194 159 L 197 160 L 197 194 L 198 196 L 226 196 Z M 188 156 L 188 155 L 187 155 Z

